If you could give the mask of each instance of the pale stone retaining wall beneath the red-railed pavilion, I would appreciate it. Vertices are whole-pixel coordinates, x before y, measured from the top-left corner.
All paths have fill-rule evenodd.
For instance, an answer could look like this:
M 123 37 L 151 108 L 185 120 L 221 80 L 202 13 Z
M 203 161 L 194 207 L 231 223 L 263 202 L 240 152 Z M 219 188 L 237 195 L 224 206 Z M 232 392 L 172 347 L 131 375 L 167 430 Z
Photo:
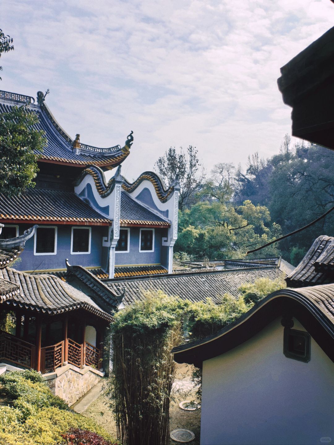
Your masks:
M 56 372 L 44 374 L 44 378 L 53 394 L 71 406 L 93 388 L 104 374 L 90 366 L 79 369 L 68 364 L 57 368 Z

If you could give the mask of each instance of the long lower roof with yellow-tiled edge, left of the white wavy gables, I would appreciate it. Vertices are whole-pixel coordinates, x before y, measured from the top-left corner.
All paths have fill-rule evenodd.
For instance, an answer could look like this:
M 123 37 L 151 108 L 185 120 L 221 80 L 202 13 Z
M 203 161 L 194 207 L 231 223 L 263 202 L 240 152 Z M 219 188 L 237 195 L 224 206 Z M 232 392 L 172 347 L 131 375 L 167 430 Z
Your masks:
M 110 225 L 112 220 L 98 213 L 74 192 L 27 189 L 20 196 L 0 194 L 0 220 L 48 223 Z

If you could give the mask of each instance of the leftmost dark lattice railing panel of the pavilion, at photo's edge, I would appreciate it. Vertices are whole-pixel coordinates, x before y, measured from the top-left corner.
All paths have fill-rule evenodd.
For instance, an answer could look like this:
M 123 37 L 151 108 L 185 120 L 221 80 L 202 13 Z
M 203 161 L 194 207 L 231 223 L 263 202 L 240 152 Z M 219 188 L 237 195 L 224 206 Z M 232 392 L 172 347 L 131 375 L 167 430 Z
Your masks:
M 26 368 L 33 367 L 35 346 L 0 331 L 0 360 L 10 360 Z

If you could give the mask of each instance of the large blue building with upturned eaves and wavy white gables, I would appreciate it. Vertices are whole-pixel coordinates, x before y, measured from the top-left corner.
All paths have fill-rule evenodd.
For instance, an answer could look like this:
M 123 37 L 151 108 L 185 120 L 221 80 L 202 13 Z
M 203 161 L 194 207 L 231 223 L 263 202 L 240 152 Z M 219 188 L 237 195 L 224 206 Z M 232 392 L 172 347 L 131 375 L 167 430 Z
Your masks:
M 123 147 L 99 148 L 73 140 L 57 123 L 39 91 L 33 97 L 0 91 L 0 112 L 29 105 L 47 144 L 39 155 L 36 187 L 20 196 L 0 194 L 2 238 L 13 238 L 33 224 L 17 270 L 65 274 L 65 260 L 98 278 L 172 272 L 177 238 L 179 186 L 163 188 L 145 172 L 133 183 L 121 174 L 130 154 L 132 131 Z M 106 181 L 105 172 L 115 169 Z

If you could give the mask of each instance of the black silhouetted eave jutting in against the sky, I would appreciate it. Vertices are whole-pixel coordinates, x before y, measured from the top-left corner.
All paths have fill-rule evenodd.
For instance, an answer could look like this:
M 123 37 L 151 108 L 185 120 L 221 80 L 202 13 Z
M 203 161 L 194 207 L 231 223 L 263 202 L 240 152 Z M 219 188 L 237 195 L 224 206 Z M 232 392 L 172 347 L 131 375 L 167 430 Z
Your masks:
M 283 102 L 292 107 L 292 135 L 334 150 L 334 27 L 281 68 Z

